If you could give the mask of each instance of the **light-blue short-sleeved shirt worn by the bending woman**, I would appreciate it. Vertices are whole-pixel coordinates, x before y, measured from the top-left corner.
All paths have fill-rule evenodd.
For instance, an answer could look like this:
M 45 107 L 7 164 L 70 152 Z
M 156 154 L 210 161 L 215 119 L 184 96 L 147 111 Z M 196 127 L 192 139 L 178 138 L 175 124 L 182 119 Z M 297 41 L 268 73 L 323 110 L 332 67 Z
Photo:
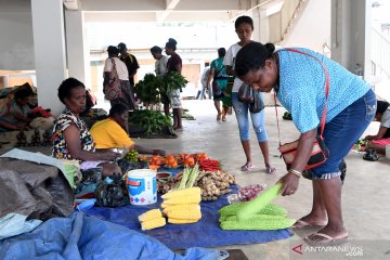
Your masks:
M 329 74 L 329 96 L 326 122 L 362 98 L 369 86 L 335 61 L 303 48 L 299 51 L 316 56 Z M 280 88 L 277 99 L 291 113 L 294 123 L 300 132 L 318 127 L 325 105 L 325 74 L 313 57 L 278 50 Z

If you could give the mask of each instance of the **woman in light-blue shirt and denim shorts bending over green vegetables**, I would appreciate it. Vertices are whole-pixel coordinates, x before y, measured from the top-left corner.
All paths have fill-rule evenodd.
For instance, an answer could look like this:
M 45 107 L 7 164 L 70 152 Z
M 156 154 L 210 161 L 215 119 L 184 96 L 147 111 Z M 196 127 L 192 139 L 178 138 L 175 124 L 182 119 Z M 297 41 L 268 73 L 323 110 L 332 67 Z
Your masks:
M 327 100 L 323 66 L 330 82 Z M 291 113 L 300 132 L 291 168 L 280 180 L 283 195 L 292 195 L 298 190 L 327 104 L 324 140 L 329 158 L 312 169 L 312 210 L 298 220 L 295 227 L 323 226 L 306 237 L 310 244 L 324 245 L 344 239 L 348 232 L 342 221 L 339 164 L 375 116 L 374 91 L 364 80 L 320 53 L 308 49 L 275 52 L 272 43 L 250 42 L 243 47 L 237 54 L 235 72 L 253 89 L 262 92 L 274 90 L 281 104 Z

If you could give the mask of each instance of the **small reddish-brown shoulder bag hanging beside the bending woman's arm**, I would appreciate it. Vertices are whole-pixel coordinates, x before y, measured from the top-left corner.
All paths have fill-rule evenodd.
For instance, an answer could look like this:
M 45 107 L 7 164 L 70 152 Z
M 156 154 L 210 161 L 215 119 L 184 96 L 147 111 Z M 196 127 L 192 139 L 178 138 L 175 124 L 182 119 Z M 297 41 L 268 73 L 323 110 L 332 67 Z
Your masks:
M 278 151 L 282 153 L 282 157 L 287 165 L 287 169 L 291 167 L 295 155 L 297 153 L 298 140 L 291 143 L 283 144 L 278 147 Z M 313 151 L 309 158 L 306 170 L 312 169 L 324 164 L 329 157 L 329 150 L 326 147 L 324 140 L 318 135 L 314 141 Z

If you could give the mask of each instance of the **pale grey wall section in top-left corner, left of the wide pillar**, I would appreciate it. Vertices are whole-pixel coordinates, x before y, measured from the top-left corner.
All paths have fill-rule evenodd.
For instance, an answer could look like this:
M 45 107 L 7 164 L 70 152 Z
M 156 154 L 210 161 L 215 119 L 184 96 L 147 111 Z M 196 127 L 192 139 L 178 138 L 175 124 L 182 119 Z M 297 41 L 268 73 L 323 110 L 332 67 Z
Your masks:
M 0 69 L 35 69 L 30 1 L 0 2 Z

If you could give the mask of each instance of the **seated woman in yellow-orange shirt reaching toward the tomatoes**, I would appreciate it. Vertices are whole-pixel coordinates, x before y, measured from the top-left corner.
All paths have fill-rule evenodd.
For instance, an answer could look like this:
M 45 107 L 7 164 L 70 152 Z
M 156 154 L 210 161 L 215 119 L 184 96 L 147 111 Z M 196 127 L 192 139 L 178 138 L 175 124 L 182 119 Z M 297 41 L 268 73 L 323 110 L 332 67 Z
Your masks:
M 136 145 L 127 133 L 128 108 L 122 104 L 115 104 L 109 109 L 108 118 L 95 122 L 91 134 L 96 148 L 135 150 L 140 154 L 165 155 L 162 150 L 150 150 Z

